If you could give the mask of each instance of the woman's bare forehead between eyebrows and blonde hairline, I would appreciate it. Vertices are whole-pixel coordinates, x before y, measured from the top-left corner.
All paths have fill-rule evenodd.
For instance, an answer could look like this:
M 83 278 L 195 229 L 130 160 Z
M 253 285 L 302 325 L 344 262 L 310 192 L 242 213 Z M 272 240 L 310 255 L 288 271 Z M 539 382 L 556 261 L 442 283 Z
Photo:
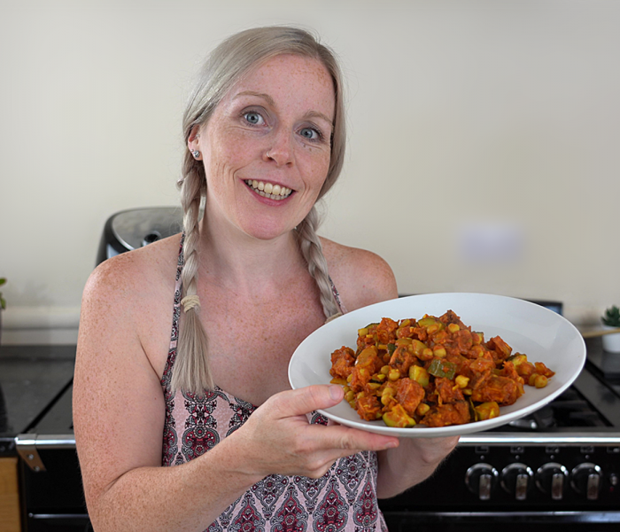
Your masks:
M 283 54 L 268 59 L 245 74 L 224 100 L 265 95 L 276 106 L 297 106 L 302 113 L 318 112 L 332 118 L 336 106 L 334 82 L 317 59 Z

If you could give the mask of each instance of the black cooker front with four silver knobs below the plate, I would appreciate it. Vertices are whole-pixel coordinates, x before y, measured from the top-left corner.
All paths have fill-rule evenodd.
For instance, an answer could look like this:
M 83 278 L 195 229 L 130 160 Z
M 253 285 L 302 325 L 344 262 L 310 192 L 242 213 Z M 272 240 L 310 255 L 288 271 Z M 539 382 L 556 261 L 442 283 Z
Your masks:
M 429 479 L 379 502 L 390 532 L 620 530 L 620 436 L 615 432 L 581 438 L 572 434 L 575 445 L 561 445 L 562 439 L 569 438 L 461 436 L 457 449 Z M 598 478 L 592 473 L 582 475 L 586 470 L 580 465 L 590 462 L 600 466 Z M 547 467 L 556 463 L 568 476 Z M 519 479 L 515 473 L 520 472 Z M 561 482 L 555 477 L 562 477 Z

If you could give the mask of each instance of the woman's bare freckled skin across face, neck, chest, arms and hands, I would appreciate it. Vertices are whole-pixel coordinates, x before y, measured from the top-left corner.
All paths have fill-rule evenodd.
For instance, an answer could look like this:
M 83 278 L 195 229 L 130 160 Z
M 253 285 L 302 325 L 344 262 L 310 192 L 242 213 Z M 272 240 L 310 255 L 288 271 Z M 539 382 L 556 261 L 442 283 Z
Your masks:
M 322 65 L 278 56 L 239 82 L 212 121 L 190 136 L 188 147 L 201 152 L 208 184 L 198 295 L 214 381 L 260 405 L 212 450 L 187 464 L 161 466 L 166 405 L 160 379 L 180 235 L 112 257 L 89 278 L 74 430 L 97 532 L 204 530 L 267 474 L 318 478 L 358 450 L 381 451 L 377 489 L 391 497 L 428 476 L 452 449 L 454 441 L 411 438 L 386 450 L 398 444 L 395 438 L 309 426 L 306 412 L 338 403 L 342 389 L 335 387 L 336 395 L 328 386 L 290 390 L 291 355 L 325 320 L 292 230 L 324 182 L 333 113 L 333 85 Z M 265 200 L 246 179 L 294 192 Z M 347 309 L 397 297 L 391 269 L 376 254 L 327 239 L 322 245 Z

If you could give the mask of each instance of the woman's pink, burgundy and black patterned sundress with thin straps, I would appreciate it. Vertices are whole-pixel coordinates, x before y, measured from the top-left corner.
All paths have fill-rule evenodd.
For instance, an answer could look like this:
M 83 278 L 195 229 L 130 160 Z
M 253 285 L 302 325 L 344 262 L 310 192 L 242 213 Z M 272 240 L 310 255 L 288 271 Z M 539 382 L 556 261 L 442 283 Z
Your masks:
M 162 465 L 166 466 L 189 462 L 213 449 L 242 426 L 257 408 L 220 387 L 205 395 L 182 391 L 172 395 L 170 379 L 181 313 L 182 264 L 181 243 L 172 336 L 161 379 L 166 398 Z M 333 289 L 337 297 L 336 288 Z M 338 297 L 337 301 L 340 304 Z M 328 419 L 317 412 L 308 414 L 308 419 L 313 424 L 328 424 Z M 229 505 L 205 532 L 387 532 L 384 516 L 377 505 L 376 477 L 376 453 L 371 451 L 340 458 L 319 479 L 271 474 Z

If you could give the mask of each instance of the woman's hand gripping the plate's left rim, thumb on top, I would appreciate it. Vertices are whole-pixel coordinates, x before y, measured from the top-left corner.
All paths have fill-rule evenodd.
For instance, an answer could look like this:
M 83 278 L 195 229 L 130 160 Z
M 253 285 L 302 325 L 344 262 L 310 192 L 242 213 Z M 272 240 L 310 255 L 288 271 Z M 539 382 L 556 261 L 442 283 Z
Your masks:
M 334 406 L 343 395 L 342 387 L 316 385 L 270 397 L 231 435 L 244 466 L 260 478 L 272 473 L 319 478 L 338 458 L 399 445 L 391 436 L 308 423 L 306 413 Z

